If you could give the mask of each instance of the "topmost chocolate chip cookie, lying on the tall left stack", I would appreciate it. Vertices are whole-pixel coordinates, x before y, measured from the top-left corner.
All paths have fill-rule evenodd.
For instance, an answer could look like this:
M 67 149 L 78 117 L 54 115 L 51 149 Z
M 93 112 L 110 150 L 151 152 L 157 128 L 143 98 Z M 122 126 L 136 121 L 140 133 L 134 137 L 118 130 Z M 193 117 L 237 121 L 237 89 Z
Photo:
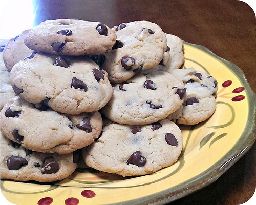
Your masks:
M 24 39 L 32 50 L 61 55 L 102 54 L 115 42 L 115 33 L 104 23 L 72 19 L 46 20 Z

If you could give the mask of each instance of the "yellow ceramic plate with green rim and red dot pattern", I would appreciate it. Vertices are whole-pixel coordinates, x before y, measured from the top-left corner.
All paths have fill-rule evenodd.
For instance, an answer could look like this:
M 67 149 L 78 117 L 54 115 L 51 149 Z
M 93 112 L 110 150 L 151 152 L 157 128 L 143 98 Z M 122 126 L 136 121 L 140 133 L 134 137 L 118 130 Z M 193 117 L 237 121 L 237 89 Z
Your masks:
M 194 67 L 217 79 L 217 109 L 205 122 L 180 126 L 183 151 L 173 166 L 126 178 L 80 166 L 55 183 L 1 180 L 3 195 L 24 205 L 164 204 L 218 179 L 255 141 L 255 93 L 236 65 L 205 47 L 186 42 L 184 47 L 185 68 Z

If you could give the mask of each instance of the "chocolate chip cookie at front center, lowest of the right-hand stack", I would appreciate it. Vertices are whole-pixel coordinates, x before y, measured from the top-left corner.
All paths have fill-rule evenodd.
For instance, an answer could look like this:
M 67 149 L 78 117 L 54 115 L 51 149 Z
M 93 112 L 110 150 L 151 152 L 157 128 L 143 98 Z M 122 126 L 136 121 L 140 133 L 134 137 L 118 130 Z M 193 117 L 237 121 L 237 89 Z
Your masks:
M 173 165 L 182 150 L 181 131 L 167 119 L 143 126 L 108 122 L 102 131 L 97 141 L 82 149 L 83 159 L 89 167 L 123 177 Z

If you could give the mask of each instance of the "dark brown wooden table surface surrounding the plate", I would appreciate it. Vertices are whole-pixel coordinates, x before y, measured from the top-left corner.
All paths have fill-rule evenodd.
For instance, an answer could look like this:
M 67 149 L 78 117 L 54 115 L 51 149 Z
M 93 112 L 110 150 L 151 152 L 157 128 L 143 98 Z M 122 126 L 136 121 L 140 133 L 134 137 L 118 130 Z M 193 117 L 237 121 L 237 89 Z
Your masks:
M 103 22 L 109 27 L 150 20 L 165 33 L 207 47 L 241 68 L 256 91 L 256 20 L 242 1 L 42 1 L 35 0 L 34 25 L 47 19 L 70 18 Z M 175 204 L 241 204 L 256 186 L 256 145 L 217 181 Z

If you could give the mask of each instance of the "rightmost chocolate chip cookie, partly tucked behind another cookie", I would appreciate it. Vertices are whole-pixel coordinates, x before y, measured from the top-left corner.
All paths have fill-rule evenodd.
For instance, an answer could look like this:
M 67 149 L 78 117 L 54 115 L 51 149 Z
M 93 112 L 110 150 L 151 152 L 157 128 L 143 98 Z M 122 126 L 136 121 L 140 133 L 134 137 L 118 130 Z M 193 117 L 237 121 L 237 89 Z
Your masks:
M 171 73 L 185 83 L 186 96 L 181 107 L 167 119 L 185 125 L 208 119 L 216 109 L 217 80 L 194 68 L 172 70 Z

